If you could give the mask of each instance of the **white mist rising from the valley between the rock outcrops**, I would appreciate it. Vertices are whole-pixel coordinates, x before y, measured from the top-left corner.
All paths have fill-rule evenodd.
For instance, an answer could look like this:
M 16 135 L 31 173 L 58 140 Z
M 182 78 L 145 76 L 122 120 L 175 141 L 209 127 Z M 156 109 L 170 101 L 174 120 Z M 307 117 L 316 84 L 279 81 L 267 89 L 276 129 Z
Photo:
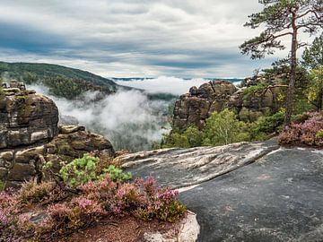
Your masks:
M 74 123 L 77 119 L 87 130 L 104 135 L 116 150 L 149 150 L 170 129 L 167 112 L 173 101 L 151 100 L 142 91 L 118 91 L 94 101 L 99 92 L 88 91 L 80 99 L 67 100 L 48 94 L 44 86 L 28 88 L 53 99 L 61 120 Z

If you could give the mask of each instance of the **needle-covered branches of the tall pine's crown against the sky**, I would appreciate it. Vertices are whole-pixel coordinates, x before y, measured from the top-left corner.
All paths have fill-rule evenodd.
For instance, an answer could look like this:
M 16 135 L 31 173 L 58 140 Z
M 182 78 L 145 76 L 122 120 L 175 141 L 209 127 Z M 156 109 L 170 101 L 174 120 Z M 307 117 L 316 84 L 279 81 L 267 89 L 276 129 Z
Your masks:
M 264 25 L 265 29 L 258 37 L 240 46 L 242 54 L 248 54 L 251 58 L 262 58 L 274 54 L 275 49 L 285 48 L 279 38 L 292 37 L 293 13 L 297 17 L 295 25 L 299 32 L 303 30 L 314 34 L 320 30 L 319 18 L 323 14 L 320 0 L 259 0 L 259 3 L 264 5 L 263 10 L 251 14 L 245 26 L 256 29 Z M 319 17 L 312 17 L 313 13 Z

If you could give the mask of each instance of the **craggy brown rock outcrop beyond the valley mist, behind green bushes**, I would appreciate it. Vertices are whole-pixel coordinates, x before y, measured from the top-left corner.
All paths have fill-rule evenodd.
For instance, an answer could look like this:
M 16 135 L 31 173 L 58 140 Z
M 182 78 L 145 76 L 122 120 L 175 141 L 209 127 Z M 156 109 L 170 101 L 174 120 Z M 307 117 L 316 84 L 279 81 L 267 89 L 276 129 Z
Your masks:
M 263 114 L 276 112 L 279 108 L 279 89 L 270 88 L 263 93 L 249 95 L 245 93 L 246 88 L 263 82 L 262 78 L 249 78 L 242 83 L 242 88 L 228 81 L 212 81 L 199 88 L 192 87 L 189 93 L 181 95 L 176 101 L 173 125 L 179 130 L 189 125 L 202 128 L 206 118 L 224 108 L 234 109 L 240 119 L 245 121 L 255 121 Z

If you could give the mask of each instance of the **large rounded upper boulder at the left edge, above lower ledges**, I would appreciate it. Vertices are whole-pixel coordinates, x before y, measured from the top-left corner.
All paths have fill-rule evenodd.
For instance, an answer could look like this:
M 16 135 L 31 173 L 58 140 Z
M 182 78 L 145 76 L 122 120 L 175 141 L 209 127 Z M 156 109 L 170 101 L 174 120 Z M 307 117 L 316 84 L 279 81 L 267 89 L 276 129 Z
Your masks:
M 49 141 L 57 135 L 57 122 L 55 103 L 35 91 L 0 94 L 0 149 Z

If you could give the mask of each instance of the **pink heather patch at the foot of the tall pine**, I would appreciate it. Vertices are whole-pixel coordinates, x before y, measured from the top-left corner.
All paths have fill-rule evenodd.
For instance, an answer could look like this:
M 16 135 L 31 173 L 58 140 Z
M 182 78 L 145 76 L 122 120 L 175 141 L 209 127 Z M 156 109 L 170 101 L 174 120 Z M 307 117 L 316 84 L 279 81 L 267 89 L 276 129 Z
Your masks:
M 323 146 L 323 114 L 310 113 L 303 123 L 292 123 L 288 130 L 279 135 L 279 142 L 283 144 L 306 144 Z

